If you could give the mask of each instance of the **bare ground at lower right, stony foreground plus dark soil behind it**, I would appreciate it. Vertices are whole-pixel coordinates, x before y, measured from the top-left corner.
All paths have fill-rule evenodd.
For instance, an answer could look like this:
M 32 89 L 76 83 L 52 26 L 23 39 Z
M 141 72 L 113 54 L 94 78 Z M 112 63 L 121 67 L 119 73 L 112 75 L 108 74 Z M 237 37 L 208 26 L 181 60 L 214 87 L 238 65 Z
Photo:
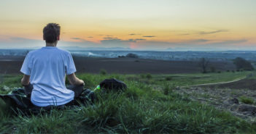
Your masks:
M 256 80 L 244 79 L 220 85 L 177 88 L 175 91 L 186 94 L 195 101 L 231 112 L 236 117 L 241 117 L 249 122 L 256 122 L 255 85 Z M 243 96 L 254 100 L 254 103 L 245 104 L 241 101 Z

